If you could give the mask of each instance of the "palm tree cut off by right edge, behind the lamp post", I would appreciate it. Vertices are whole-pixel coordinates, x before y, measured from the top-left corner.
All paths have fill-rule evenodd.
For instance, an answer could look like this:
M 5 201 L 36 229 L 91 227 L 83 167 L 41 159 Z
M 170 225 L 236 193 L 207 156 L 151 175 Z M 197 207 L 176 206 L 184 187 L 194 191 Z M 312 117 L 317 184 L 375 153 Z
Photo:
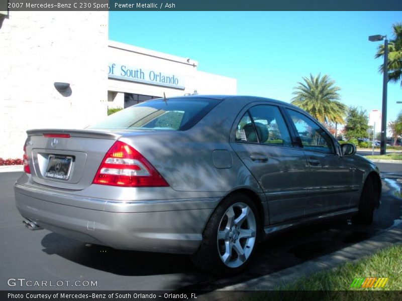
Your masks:
M 400 80 L 402 86 L 402 23 L 392 25 L 393 39 L 388 43 L 388 81 L 397 83 Z M 375 58 L 384 56 L 384 45 L 378 45 Z M 384 64 L 378 71 L 384 72 Z

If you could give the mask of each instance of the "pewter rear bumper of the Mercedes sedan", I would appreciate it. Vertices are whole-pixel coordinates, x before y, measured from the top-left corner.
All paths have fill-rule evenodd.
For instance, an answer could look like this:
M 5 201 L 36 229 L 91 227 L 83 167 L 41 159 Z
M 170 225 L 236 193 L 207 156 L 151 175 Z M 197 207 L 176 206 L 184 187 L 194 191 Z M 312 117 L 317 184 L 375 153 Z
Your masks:
M 69 197 L 74 204 L 81 199 L 85 208 L 66 205 Z M 69 196 L 20 184 L 15 185 L 15 198 L 23 217 L 67 237 L 117 249 L 187 254 L 198 248 L 220 200 L 127 202 Z

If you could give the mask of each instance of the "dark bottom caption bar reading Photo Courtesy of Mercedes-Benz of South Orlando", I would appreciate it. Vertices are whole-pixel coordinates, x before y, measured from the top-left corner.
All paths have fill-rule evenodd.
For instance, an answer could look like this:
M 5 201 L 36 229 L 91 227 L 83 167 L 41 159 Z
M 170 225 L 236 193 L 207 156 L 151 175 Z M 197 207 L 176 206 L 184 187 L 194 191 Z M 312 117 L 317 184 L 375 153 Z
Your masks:
M 2 290 L 0 300 L 20 301 L 129 301 L 129 300 L 401 300 L 400 290 L 269 290 L 269 291 L 131 291 L 131 290 Z

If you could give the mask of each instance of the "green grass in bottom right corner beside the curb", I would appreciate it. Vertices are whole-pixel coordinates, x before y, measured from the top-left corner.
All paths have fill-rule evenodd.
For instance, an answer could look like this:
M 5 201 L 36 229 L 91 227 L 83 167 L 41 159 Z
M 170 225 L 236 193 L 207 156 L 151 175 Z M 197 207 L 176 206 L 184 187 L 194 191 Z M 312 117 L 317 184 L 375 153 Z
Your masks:
M 355 278 L 388 278 L 384 287 L 351 287 Z M 375 283 L 375 282 L 374 282 Z M 271 291 L 253 292 L 243 298 L 261 300 L 401 300 L 402 244 L 376 251 L 357 261 L 282 283 Z

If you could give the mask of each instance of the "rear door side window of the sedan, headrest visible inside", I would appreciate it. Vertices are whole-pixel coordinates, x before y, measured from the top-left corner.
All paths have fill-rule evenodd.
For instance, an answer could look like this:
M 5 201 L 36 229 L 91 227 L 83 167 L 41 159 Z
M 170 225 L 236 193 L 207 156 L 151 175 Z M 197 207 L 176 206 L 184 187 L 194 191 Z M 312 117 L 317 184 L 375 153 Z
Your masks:
M 240 120 L 236 141 L 291 146 L 289 132 L 278 107 L 256 105 Z

